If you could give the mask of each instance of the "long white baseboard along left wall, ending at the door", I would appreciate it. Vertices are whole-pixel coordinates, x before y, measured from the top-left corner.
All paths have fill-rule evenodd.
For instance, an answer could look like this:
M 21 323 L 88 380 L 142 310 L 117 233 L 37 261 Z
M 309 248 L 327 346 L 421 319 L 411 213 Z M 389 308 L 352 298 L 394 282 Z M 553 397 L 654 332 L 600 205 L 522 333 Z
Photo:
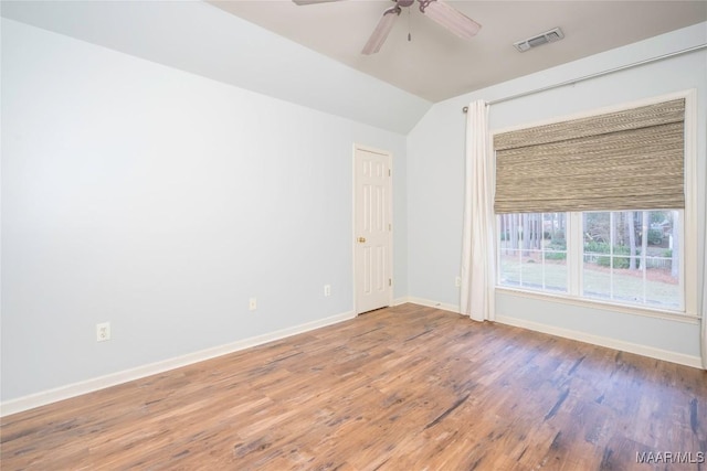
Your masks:
M 81 396 L 82 394 L 93 393 L 95 390 L 116 386 L 129 381 L 165 373 L 169 370 L 175 370 L 182 366 L 191 365 L 193 363 L 203 362 L 204 360 L 226 355 L 229 353 L 238 352 L 244 349 L 250 349 L 251 346 L 257 346 L 267 342 L 273 342 L 275 340 L 281 340 L 304 332 L 309 332 L 315 329 L 354 319 L 356 315 L 354 314 L 354 311 L 344 312 L 341 314 L 331 315 L 325 319 L 319 319 L 287 329 L 282 329 L 263 335 L 239 340 L 225 345 L 219 345 L 211 349 L 201 350 L 199 352 L 188 353 L 186 355 L 177 356 L 173 358 L 162 360 L 160 362 L 141 365 L 130 370 L 124 370 L 122 372 L 112 373 L 105 376 L 98 376 L 95 378 L 82 381 L 80 383 L 56 387 L 54 389 L 43 390 L 30 396 L 19 397 L 17 399 L 8 400 L 0 404 L 0 417 L 33 409 L 40 406 L 45 406 L 48 404 L 68 399 L 71 397 Z

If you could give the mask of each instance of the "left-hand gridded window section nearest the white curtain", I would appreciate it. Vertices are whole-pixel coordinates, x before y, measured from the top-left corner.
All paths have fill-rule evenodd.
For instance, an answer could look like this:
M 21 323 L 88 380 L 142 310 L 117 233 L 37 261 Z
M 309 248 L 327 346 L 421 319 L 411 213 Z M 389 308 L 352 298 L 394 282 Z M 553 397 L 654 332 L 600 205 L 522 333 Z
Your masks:
M 566 224 L 566 213 L 499 215 L 499 285 L 567 292 Z

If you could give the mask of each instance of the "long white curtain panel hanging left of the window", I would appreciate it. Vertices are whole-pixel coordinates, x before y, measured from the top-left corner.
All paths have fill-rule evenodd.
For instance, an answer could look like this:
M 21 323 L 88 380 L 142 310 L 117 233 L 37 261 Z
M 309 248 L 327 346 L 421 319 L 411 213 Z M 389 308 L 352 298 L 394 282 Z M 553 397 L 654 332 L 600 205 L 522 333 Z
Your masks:
M 477 100 L 466 114 L 466 174 L 462 242 L 462 314 L 494 320 L 495 275 L 494 153 L 488 106 Z

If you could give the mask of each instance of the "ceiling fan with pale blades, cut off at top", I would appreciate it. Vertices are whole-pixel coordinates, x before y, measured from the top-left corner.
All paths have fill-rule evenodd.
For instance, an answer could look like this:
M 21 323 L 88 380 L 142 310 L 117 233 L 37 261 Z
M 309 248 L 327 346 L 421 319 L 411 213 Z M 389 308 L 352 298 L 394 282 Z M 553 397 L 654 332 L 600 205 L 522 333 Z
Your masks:
M 339 0 L 292 0 L 298 6 L 327 3 Z M 378 25 L 363 46 L 361 54 L 370 55 L 380 51 L 386 42 L 388 34 L 393 28 L 395 19 L 400 15 L 403 8 L 410 8 L 415 0 L 392 0 L 395 6 L 383 12 Z M 457 9 L 444 3 L 442 0 L 418 0 L 420 11 L 426 14 L 431 20 L 436 21 L 442 26 L 450 30 L 460 38 L 468 40 L 478 33 L 482 25 L 458 11 Z

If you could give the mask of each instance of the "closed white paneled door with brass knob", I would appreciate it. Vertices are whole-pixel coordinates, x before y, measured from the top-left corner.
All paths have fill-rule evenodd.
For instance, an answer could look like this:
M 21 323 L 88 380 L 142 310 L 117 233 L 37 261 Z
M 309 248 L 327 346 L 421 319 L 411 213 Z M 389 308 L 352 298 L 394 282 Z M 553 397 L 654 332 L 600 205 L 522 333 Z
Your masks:
M 354 149 L 356 313 L 391 304 L 391 157 Z

